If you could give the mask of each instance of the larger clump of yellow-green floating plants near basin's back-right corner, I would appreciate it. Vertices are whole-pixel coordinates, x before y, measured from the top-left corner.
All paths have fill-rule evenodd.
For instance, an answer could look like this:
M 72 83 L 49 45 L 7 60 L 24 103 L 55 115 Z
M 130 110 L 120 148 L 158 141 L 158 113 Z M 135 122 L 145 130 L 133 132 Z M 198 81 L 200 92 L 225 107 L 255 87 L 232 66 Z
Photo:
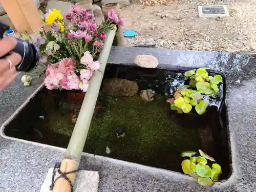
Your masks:
M 189 113 L 195 107 L 199 115 L 204 114 L 208 106 L 204 95 L 219 93 L 219 84 L 223 82 L 222 76 L 209 76 L 205 68 L 199 68 L 186 71 L 185 79 L 189 81 L 189 85 L 179 87 L 174 92 L 174 98 L 166 100 L 170 103 L 170 109 L 178 113 Z

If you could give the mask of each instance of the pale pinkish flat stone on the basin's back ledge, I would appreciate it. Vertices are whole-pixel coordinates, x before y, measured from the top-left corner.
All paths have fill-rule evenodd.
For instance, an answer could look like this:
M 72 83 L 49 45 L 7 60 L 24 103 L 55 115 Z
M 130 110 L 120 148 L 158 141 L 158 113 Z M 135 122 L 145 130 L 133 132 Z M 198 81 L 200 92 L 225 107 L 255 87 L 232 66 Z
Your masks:
M 142 68 L 156 68 L 159 64 L 157 58 L 153 55 L 137 55 L 134 63 Z

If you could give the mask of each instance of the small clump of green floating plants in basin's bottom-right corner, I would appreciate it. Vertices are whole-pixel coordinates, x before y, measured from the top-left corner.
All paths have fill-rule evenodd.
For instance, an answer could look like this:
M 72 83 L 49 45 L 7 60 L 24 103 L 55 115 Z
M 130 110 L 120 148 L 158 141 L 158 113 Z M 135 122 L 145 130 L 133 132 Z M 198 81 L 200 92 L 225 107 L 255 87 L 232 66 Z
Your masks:
M 207 165 L 207 159 L 215 162 L 214 158 L 210 157 L 201 150 L 198 150 L 200 156 L 195 156 L 197 153 L 193 151 L 183 152 L 181 157 L 188 157 L 181 163 L 184 174 L 197 178 L 197 181 L 202 186 L 211 186 L 214 181 L 218 181 L 221 175 L 221 166 L 213 163 L 211 167 Z

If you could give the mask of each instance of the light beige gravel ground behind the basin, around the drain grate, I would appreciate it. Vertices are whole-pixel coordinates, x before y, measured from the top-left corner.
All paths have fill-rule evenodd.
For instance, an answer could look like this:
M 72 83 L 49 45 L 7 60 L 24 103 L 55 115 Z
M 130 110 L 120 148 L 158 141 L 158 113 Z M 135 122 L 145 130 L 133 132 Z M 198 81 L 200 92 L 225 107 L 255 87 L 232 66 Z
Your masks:
M 227 5 L 229 17 L 198 17 L 198 5 Z M 256 4 L 246 1 L 185 0 L 171 5 L 132 4 L 122 9 L 125 29 L 139 35 L 125 38 L 126 46 L 199 51 L 256 52 Z

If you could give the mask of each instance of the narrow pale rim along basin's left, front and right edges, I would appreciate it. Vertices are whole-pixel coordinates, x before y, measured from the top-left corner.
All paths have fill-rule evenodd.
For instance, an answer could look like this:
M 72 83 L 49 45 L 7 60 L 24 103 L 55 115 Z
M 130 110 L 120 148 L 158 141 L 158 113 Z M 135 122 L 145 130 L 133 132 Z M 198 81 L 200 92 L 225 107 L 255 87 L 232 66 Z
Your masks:
M 23 139 L 14 138 L 14 137 L 9 137 L 4 134 L 5 126 L 15 118 L 15 116 L 29 103 L 29 101 L 37 94 L 38 91 L 40 91 L 42 89 L 42 87 L 44 87 L 44 83 L 40 84 L 40 86 L 28 97 L 28 99 L 22 105 L 20 105 L 19 108 L 2 124 L 2 126 L 0 128 L 0 136 L 5 139 L 9 139 L 9 140 L 19 141 L 19 142 L 33 144 L 33 145 L 42 146 L 42 147 L 48 147 L 48 148 L 52 148 L 54 150 L 59 150 L 59 151 L 65 152 L 67 150 L 66 148 L 52 146 L 52 145 L 48 145 L 48 144 L 37 143 L 37 142 L 33 142 L 33 141 L 27 141 L 27 140 L 23 140 Z M 237 178 L 236 175 L 238 174 L 238 169 L 237 169 L 238 158 L 235 155 L 236 147 L 235 147 L 235 144 L 234 144 L 234 141 L 232 138 L 233 138 L 233 136 L 229 132 L 233 172 L 227 180 L 215 182 L 214 185 L 212 185 L 212 188 L 226 187 L 227 185 L 233 184 L 235 179 Z M 94 157 L 94 158 L 97 158 L 97 159 L 100 159 L 103 161 L 109 161 L 114 164 L 119 164 L 122 166 L 129 166 L 129 167 L 137 168 L 139 170 L 144 170 L 146 172 L 150 172 L 150 174 L 152 174 L 152 173 L 162 174 L 162 175 L 166 175 L 168 177 L 175 177 L 178 179 L 182 179 L 184 181 L 188 180 L 188 181 L 196 182 L 195 178 L 189 177 L 188 175 L 185 175 L 182 173 L 174 172 L 172 170 L 146 166 L 146 165 L 142 165 L 142 164 L 138 164 L 138 163 L 122 161 L 122 160 L 118 160 L 118 159 L 113 159 L 113 158 L 89 154 L 89 153 L 82 153 L 82 154 L 83 154 L 83 156 Z

